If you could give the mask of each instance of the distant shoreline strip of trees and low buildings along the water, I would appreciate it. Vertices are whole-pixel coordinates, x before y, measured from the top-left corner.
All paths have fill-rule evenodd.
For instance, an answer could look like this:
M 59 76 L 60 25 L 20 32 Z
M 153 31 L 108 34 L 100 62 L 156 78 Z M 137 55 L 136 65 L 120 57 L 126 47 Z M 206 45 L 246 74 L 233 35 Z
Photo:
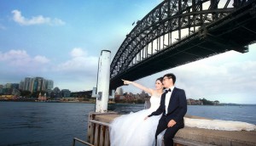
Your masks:
M 96 98 L 92 98 L 92 91 L 83 92 L 69 92 L 65 93 L 58 90 L 58 92 L 47 93 L 45 91 L 37 91 L 31 93 L 30 91 L 20 91 L 20 93 L 0 93 L 1 101 L 20 101 L 20 102 L 48 102 L 48 103 L 85 103 L 95 104 Z M 148 93 L 123 93 L 122 90 L 114 94 L 114 98 L 109 98 L 108 104 L 146 104 L 150 105 L 150 96 Z M 199 97 L 194 97 L 199 98 Z M 187 98 L 188 105 L 218 105 L 218 106 L 242 106 L 245 104 L 221 103 L 218 100 L 207 100 L 207 98 Z M 256 104 L 249 104 L 256 105 Z

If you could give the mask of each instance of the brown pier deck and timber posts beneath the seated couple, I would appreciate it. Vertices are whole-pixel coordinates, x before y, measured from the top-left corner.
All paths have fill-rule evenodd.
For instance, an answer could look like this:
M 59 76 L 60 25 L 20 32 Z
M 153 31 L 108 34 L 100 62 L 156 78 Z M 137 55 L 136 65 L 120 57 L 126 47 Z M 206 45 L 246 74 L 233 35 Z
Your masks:
M 118 117 L 116 113 L 107 113 L 107 114 L 97 114 L 91 113 L 90 114 L 90 121 L 97 122 L 98 124 L 103 124 L 107 126 L 108 132 L 108 125 L 114 118 Z M 186 115 L 189 118 L 199 119 L 201 117 L 198 116 L 191 116 Z M 90 123 L 89 121 L 89 123 Z M 91 123 L 90 123 L 91 124 Z M 92 125 L 90 125 L 92 126 Z M 94 127 L 94 126 L 92 126 Z M 88 129 L 93 129 L 92 127 L 88 127 Z M 97 133 L 96 133 L 97 134 Z M 88 133 L 88 139 L 91 139 L 91 143 L 94 143 L 95 140 L 95 132 Z M 108 133 L 105 133 L 105 135 Z M 106 136 L 105 141 L 108 141 L 105 145 L 109 145 L 109 138 Z M 175 138 L 174 143 L 179 145 L 224 145 L 224 146 L 256 146 L 256 131 L 253 132 L 230 132 L 230 131 L 218 131 L 218 130 L 208 130 L 208 129 L 201 129 L 196 127 L 188 127 L 185 126 L 183 129 L 180 129 Z M 97 144 L 95 144 L 97 145 Z

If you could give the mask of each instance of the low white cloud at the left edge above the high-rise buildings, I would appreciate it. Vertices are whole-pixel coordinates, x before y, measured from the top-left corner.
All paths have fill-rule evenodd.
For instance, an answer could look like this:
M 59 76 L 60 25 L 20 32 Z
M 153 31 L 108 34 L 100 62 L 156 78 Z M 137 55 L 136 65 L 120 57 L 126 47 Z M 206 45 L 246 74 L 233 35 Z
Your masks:
M 0 52 L 0 61 L 14 66 L 34 66 L 49 63 L 49 59 L 44 56 L 31 57 L 25 50 L 9 50 L 9 52 Z

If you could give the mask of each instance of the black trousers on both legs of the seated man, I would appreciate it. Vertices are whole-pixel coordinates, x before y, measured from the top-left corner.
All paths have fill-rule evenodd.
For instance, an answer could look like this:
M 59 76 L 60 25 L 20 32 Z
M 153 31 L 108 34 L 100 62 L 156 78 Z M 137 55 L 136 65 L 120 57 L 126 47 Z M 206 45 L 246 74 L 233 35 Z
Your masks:
M 184 121 L 177 122 L 174 126 L 167 127 L 169 121 L 166 121 L 166 117 L 162 116 L 160 118 L 160 121 L 158 123 L 156 132 L 155 132 L 155 145 L 157 144 L 157 136 L 160 134 L 160 132 L 163 132 L 166 129 L 165 135 L 164 135 L 164 142 L 165 146 L 173 146 L 173 140 L 176 132 L 184 127 Z

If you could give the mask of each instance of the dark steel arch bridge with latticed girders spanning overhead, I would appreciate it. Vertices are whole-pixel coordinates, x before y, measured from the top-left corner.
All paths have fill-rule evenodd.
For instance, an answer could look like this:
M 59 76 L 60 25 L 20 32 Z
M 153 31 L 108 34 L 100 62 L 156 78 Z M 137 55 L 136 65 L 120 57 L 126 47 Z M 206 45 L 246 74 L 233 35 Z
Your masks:
M 110 89 L 256 41 L 256 0 L 165 0 L 126 35 L 110 66 Z

